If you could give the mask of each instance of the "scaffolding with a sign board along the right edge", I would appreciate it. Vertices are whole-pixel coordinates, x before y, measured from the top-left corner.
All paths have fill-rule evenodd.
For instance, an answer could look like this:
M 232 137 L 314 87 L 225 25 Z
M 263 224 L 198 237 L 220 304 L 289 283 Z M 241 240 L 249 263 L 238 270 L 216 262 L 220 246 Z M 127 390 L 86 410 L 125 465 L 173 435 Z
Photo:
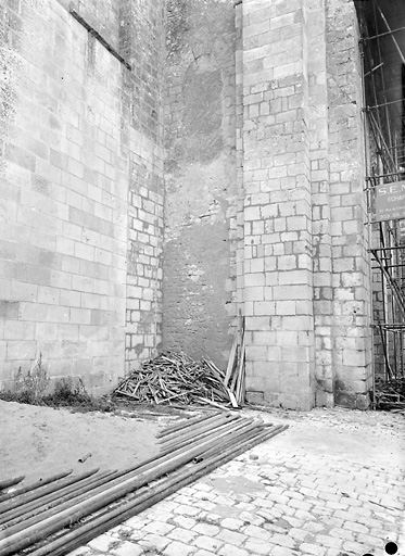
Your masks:
M 393 3 L 356 2 L 364 79 L 375 374 L 384 382 L 405 377 L 405 16 L 403 10 L 393 12 Z M 390 24 L 393 21 L 398 24 L 395 28 Z M 387 191 L 401 194 L 383 199 Z M 381 210 L 387 199 L 393 200 L 394 210 Z

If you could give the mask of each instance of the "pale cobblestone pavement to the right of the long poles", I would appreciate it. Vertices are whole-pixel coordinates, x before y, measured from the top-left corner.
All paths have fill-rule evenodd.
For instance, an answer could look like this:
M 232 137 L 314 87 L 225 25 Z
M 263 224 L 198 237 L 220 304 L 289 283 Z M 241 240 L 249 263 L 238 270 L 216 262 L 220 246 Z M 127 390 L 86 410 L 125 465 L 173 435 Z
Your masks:
M 405 555 L 404 416 L 243 414 L 290 428 L 71 556 Z

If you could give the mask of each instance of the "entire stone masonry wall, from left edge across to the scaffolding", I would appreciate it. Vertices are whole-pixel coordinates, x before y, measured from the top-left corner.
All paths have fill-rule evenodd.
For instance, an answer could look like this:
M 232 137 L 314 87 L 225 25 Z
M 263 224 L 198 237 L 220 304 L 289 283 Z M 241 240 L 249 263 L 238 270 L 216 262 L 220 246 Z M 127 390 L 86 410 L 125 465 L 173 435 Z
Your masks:
M 368 407 L 353 0 L 9 0 L 0 88 L 0 387 L 225 368 L 241 312 L 248 400 Z

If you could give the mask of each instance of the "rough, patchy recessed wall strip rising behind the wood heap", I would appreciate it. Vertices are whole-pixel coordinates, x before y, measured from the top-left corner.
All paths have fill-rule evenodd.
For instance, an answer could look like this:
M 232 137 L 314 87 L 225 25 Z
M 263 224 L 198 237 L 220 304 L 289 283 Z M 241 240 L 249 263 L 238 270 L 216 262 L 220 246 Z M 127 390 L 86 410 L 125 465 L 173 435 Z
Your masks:
M 167 10 L 164 348 L 224 368 L 236 312 L 233 2 Z

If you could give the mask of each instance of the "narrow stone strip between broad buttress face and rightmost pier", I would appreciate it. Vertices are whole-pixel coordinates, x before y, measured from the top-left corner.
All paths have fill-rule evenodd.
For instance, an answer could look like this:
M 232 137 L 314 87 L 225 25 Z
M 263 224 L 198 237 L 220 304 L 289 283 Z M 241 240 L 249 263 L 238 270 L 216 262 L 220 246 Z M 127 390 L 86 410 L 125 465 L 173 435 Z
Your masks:
M 309 148 L 314 253 L 315 403 L 333 406 L 332 367 L 332 248 L 327 89 L 326 2 L 307 10 Z

